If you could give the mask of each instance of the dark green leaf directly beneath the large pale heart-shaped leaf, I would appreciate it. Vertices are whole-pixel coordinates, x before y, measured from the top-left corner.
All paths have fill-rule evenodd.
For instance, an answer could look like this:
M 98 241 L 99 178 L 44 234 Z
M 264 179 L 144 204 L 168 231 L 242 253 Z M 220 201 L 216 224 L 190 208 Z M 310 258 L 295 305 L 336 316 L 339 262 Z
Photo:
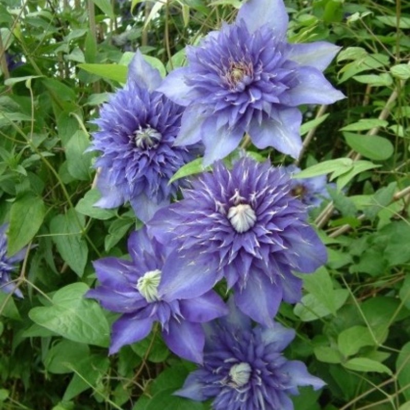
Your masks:
M 75 363 L 88 357 L 90 348 L 87 344 L 72 342 L 71 340 L 61 340 L 54 344 L 44 358 L 44 366 L 50 373 L 66 374 L 71 373 Z

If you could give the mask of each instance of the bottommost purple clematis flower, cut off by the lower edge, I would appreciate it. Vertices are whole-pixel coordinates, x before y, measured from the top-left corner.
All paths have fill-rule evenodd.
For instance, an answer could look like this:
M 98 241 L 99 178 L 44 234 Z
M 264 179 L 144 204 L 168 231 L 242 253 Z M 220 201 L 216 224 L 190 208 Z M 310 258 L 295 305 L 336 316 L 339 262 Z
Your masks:
M 298 386 L 323 387 L 304 363 L 283 357 L 294 330 L 276 322 L 252 328 L 249 318 L 233 303 L 230 307 L 228 317 L 207 325 L 203 365 L 188 376 L 178 396 L 214 399 L 214 410 L 293 410 L 289 395 L 297 395 Z

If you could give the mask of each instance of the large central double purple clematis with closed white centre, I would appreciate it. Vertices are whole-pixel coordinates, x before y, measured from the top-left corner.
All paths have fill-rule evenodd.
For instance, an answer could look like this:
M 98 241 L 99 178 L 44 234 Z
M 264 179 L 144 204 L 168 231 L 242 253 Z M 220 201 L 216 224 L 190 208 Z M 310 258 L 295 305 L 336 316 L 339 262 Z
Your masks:
M 176 249 L 176 274 L 163 289 L 192 297 L 224 277 L 239 309 L 271 325 L 282 299 L 301 298 L 302 281 L 292 271 L 314 272 L 327 257 L 291 190 L 289 175 L 269 161 L 245 157 L 232 170 L 216 162 L 149 222 L 150 233 Z

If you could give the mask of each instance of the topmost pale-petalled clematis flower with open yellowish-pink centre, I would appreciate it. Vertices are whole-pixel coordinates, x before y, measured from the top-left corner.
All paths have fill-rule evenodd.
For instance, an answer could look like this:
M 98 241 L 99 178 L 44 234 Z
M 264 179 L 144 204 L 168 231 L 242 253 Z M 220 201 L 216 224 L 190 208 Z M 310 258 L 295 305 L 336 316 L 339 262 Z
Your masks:
M 297 107 L 344 96 L 322 74 L 339 47 L 289 44 L 288 20 L 282 0 L 248 0 L 234 24 L 187 47 L 188 67 L 172 71 L 159 87 L 187 107 L 176 145 L 202 140 L 209 165 L 238 147 L 246 132 L 260 149 L 298 157 Z

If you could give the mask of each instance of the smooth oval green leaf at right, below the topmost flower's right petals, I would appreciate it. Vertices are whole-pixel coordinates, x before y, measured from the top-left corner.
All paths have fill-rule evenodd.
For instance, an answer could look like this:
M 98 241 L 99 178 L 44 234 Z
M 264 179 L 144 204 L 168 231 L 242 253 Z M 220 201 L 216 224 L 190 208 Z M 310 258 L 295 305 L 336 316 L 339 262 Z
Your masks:
M 360 135 L 343 132 L 347 144 L 366 158 L 382 161 L 390 158 L 394 152 L 393 144 L 377 135 Z

